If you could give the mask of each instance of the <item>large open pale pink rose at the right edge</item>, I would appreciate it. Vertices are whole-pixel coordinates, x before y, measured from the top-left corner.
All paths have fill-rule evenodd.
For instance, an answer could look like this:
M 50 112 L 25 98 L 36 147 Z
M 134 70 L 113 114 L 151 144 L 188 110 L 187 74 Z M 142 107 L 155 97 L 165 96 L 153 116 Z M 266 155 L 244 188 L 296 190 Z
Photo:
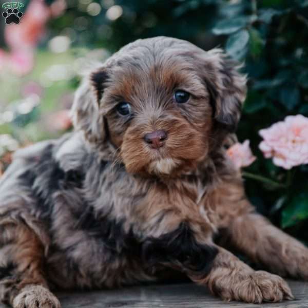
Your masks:
M 308 118 L 290 115 L 284 121 L 259 131 L 259 144 L 265 158 L 273 158 L 275 165 L 284 169 L 308 164 Z

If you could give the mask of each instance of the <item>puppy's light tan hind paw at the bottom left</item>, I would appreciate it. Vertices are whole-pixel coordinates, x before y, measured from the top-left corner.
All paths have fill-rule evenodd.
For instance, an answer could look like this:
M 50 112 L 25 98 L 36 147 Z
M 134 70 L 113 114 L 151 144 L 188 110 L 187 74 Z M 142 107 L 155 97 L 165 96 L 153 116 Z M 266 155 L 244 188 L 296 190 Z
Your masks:
M 61 304 L 46 287 L 31 284 L 14 298 L 13 308 L 61 308 Z

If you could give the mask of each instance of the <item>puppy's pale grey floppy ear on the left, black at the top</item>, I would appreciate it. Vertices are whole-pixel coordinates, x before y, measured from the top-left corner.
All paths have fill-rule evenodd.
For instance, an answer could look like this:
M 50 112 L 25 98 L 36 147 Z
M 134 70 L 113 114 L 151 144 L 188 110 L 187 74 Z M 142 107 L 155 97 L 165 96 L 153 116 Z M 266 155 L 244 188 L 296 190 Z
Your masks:
M 71 109 L 76 130 L 82 130 L 88 141 L 102 143 L 106 140 L 106 124 L 100 104 L 108 81 L 106 68 L 87 74 L 75 93 Z

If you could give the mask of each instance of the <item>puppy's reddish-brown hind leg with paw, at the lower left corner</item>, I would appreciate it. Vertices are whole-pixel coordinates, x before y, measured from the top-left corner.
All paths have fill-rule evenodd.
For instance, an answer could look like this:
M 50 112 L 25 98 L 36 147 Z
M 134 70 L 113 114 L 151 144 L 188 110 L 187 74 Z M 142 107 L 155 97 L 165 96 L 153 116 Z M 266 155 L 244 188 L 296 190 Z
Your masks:
M 0 297 L 14 308 L 59 308 L 43 276 L 44 247 L 23 223 L 0 225 Z

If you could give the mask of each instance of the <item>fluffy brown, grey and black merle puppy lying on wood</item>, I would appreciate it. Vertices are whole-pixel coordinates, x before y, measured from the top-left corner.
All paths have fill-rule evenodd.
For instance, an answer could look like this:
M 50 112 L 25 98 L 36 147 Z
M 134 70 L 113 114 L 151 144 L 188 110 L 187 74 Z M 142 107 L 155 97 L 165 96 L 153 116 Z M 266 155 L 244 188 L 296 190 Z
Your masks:
M 0 294 L 60 307 L 54 289 L 157 281 L 178 272 L 224 300 L 292 299 L 308 250 L 258 215 L 225 155 L 246 78 L 219 49 L 133 42 L 85 78 L 74 131 L 15 153 L 0 182 Z

